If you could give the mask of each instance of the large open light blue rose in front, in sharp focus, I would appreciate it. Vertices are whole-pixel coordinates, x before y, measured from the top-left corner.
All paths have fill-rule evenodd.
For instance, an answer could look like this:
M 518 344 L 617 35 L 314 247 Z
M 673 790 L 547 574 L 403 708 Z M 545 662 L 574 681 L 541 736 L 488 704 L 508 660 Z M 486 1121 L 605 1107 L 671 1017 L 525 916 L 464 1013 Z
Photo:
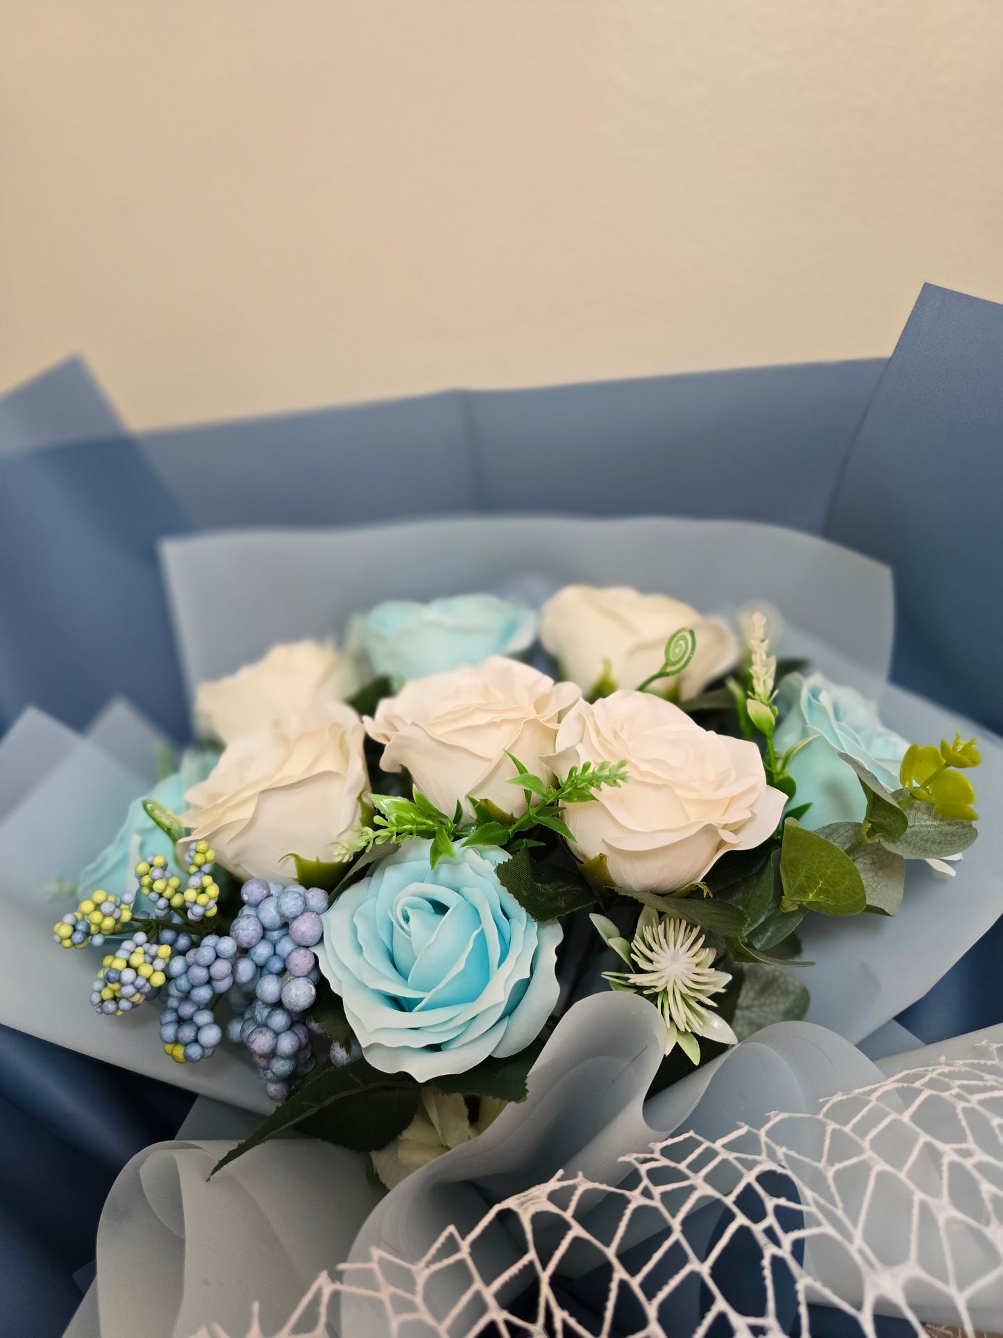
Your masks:
M 381 859 L 324 914 L 320 966 L 373 1068 L 427 1082 L 516 1054 L 558 1002 L 560 926 L 538 925 L 500 883 L 500 850 L 431 842 Z

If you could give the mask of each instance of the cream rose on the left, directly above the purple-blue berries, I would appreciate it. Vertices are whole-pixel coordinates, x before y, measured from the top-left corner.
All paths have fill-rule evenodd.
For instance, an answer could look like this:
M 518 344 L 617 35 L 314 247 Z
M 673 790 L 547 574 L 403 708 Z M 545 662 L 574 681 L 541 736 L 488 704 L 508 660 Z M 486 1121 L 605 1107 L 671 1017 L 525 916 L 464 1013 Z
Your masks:
M 361 826 L 365 731 L 345 702 L 241 735 L 185 795 L 183 820 L 238 878 L 289 882 L 290 855 L 332 860 Z M 187 842 L 185 842 L 187 844 Z

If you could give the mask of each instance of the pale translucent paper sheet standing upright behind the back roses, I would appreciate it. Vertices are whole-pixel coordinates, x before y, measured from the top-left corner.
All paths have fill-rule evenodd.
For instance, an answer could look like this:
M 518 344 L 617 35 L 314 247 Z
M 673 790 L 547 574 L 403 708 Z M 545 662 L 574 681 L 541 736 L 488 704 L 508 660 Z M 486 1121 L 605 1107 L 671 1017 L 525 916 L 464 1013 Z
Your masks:
M 190 692 L 278 641 L 341 634 L 350 614 L 381 599 L 487 590 L 542 602 L 570 583 L 658 590 L 701 613 L 766 599 L 800 629 L 785 654 L 816 652 L 832 677 L 884 678 L 891 662 L 888 567 L 752 520 L 443 516 L 227 530 L 166 539 L 160 553 Z

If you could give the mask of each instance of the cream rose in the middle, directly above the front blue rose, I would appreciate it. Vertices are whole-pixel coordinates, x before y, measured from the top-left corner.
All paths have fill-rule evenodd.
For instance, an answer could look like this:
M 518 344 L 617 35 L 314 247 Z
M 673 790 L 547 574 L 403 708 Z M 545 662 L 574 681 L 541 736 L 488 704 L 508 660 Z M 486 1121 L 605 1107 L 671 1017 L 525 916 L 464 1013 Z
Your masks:
M 385 744 L 384 771 L 407 767 L 417 788 L 452 816 L 457 800 L 488 799 L 506 814 L 526 812 L 526 795 L 507 784 L 516 771 L 506 752 L 544 780 L 543 761 L 556 748 L 558 725 L 580 693 L 572 682 L 504 656 L 475 668 L 416 678 L 384 697 L 365 727 Z

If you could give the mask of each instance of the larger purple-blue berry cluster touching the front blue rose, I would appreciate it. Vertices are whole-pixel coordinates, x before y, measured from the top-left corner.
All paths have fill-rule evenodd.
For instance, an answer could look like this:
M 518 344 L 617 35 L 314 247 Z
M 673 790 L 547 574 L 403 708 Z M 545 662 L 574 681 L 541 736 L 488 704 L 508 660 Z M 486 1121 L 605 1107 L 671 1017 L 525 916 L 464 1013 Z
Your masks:
M 230 926 L 241 955 L 234 983 L 253 995 L 227 1034 L 247 1046 L 274 1101 L 313 1066 L 302 1014 L 317 998 L 320 967 L 313 951 L 324 934 L 328 894 L 298 883 L 284 887 L 251 878 L 241 888 L 243 907 Z

